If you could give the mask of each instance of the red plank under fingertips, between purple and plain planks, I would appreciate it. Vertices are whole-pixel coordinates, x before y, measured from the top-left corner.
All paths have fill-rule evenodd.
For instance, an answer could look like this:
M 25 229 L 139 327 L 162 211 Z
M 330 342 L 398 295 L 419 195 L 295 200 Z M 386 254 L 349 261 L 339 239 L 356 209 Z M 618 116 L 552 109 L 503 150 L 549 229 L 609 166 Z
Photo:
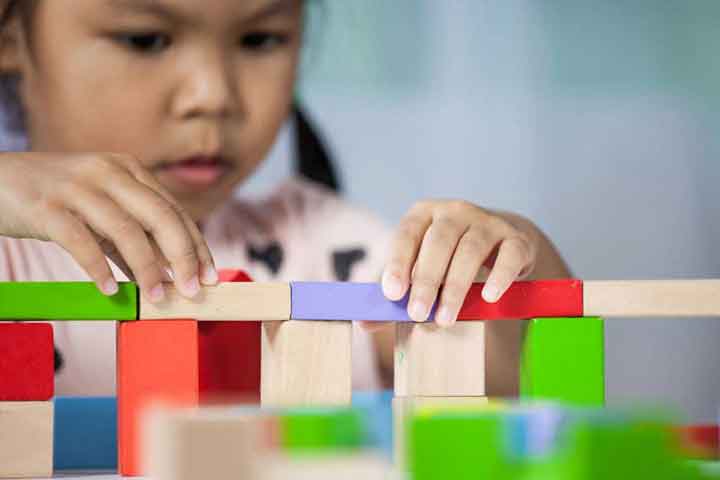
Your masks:
M 487 303 L 484 283 L 470 288 L 458 320 L 514 320 L 537 317 L 582 317 L 581 280 L 515 282 L 497 303 Z

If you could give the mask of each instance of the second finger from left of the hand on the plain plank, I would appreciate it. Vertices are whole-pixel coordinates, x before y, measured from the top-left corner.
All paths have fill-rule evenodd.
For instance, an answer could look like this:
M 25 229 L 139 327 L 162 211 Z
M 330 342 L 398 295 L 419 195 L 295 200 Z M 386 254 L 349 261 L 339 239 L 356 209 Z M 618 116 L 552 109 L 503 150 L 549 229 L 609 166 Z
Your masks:
M 165 297 L 164 274 L 142 225 L 101 192 L 75 189 L 66 201 L 95 233 L 117 248 L 148 300 L 161 301 Z

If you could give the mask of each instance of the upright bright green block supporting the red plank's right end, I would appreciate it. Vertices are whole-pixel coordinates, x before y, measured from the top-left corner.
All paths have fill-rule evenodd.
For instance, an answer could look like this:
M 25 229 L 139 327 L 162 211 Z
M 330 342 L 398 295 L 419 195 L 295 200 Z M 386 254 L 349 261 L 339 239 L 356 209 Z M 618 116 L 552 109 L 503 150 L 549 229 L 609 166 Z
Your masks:
M 604 405 L 603 319 L 531 320 L 520 367 L 520 396 L 570 405 Z

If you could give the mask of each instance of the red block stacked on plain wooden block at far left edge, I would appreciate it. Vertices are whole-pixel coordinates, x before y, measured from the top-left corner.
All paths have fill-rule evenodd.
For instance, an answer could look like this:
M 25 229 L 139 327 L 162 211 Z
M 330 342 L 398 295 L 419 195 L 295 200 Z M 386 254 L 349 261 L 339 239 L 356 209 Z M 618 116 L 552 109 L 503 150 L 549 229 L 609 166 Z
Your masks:
M 0 324 L 0 477 L 52 475 L 53 362 L 52 325 Z

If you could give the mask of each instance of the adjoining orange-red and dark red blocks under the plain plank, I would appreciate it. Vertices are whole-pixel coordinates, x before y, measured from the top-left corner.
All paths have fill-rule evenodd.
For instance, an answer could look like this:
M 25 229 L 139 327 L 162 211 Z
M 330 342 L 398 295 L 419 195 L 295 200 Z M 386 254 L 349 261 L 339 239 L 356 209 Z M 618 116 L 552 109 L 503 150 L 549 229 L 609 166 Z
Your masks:
M 242 272 L 221 272 L 225 281 L 246 282 L 248 278 Z M 188 305 L 201 308 L 201 303 Z M 206 307 L 212 308 L 212 304 L 202 308 Z M 143 472 L 141 425 L 149 407 L 193 407 L 259 397 L 258 334 L 257 322 L 143 319 L 118 324 L 121 474 L 135 476 Z M 242 345 L 249 348 L 242 349 Z

